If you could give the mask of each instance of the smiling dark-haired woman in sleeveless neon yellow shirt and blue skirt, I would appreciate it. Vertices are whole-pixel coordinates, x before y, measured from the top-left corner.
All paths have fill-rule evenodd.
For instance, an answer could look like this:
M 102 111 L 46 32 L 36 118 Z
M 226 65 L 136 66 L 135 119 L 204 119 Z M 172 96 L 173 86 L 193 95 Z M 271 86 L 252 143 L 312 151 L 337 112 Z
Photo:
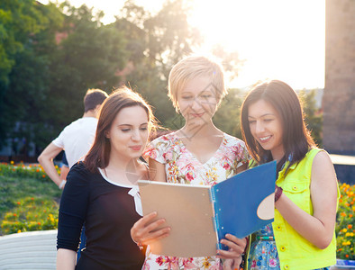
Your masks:
M 295 91 L 257 85 L 241 107 L 242 134 L 257 164 L 278 161 L 275 220 L 250 238 L 245 269 L 327 269 L 336 262 L 337 180 L 316 148 Z

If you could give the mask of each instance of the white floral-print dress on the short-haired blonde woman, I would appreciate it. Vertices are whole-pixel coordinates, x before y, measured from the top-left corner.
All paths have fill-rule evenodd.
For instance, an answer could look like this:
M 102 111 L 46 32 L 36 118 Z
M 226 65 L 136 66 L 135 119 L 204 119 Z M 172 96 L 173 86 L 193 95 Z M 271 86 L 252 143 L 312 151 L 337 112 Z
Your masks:
M 176 132 L 154 139 L 143 157 L 165 164 L 168 183 L 214 185 L 236 174 L 250 156 L 241 139 L 223 133 L 220 147 L 202 164 L 187 150 Z M 166 257 L 150 253 L 148 248 L 142 269 L 222 269 L 217 257 Z

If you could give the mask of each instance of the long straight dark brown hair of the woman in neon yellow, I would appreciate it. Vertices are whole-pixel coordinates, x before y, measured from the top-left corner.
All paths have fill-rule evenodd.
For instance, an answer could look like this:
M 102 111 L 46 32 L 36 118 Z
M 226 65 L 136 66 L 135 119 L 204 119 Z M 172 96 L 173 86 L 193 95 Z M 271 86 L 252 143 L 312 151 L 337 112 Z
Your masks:
M 270 103 L 281 117 L 285 156 L 278 161 L 279 171 L 287 160 L 290 161 L 288 167 L 302 160 L 309 148 L 315 147 L 314 139 L 305 126 L 304 113 L 297 94 L 289 85 L 278 80 L 257 85 L 241 105 L 241 133 L 250 155 L 259 164 L 272 160 L 271 152 L 263 149 L 250 131 L 249 107 L 260 99 Z

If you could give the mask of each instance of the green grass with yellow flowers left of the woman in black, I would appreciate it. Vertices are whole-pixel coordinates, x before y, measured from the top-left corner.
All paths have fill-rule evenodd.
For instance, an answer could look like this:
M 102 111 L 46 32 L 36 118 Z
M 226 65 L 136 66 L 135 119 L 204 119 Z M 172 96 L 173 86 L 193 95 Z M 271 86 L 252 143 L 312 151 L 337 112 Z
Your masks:
M 0 235 L 56 229 L 61 191 L 41 169 L 34 167 L 32 175 L 20 170 L 0 170 Z

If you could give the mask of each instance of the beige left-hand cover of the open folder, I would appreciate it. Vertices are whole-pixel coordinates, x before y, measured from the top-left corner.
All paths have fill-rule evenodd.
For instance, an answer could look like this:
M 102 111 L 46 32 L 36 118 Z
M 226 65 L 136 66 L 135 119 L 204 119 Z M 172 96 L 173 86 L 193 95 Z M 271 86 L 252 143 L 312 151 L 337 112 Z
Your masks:
M 151 184 L 150 184 L 151 183 Z M 139 181 L 143 214 L 157 211 L 170 226 L 168 238 L 150 245 L 151 252 L 173 257 L 216 255 L 213 203 L 209 186 Z M 188 186 L 188 188 L 187 188 Z

